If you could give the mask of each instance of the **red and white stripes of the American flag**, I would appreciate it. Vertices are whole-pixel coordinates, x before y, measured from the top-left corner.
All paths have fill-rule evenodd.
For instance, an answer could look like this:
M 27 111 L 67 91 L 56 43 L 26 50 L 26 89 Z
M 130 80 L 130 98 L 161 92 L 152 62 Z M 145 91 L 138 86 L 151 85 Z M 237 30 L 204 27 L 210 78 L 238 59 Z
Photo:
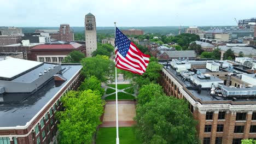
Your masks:
M 142 75 L 145 73 L 149 57 L 149 55 L 142 53 L 132 41 L 125 57 L 119 53 L 118 47 L 115 47 L 115 67 L 131 71 L 134 74 Z

